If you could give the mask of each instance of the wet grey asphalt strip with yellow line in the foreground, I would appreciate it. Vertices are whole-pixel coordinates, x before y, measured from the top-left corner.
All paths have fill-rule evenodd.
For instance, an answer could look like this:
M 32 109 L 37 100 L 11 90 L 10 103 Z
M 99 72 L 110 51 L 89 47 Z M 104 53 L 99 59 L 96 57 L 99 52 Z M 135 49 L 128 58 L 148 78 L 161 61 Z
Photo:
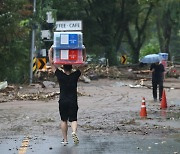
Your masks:
M 81 134 L 82 135 L 82 134 Z M 176 137 L 132 137 L 120 135 L 83 135 L 80 143 L 63 146 L 59 136 L 14 136 L 0 138 L 1 154 L 177 154 L 180 140 Z M 26 140 L 25 140 L 26 139 Z M 27 144 L 22 146 L 23 142 Z M 20 151 L 21 148 L 21 151 Z M 24 148 L 24 152 L 22 152 Z

